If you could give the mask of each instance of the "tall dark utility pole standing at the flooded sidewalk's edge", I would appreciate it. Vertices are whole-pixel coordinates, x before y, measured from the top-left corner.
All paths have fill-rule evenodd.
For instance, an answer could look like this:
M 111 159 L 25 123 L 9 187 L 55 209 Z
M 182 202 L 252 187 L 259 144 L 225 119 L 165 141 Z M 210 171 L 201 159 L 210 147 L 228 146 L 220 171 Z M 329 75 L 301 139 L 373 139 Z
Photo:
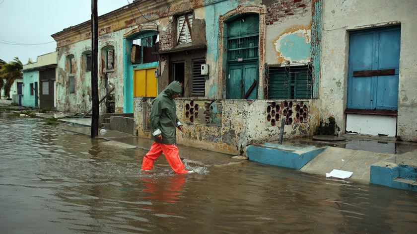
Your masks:
M 93 116 L 91 118 L 91 138 L 98 136 L 98 13 L 97 0 L 91 0 L 91 95 Z

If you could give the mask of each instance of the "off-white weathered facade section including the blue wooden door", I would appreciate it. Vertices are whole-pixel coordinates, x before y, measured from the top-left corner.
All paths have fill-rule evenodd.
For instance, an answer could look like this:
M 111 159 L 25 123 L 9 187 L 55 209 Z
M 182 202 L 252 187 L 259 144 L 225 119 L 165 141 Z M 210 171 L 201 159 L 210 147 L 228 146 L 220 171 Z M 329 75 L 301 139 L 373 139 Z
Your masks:
M 413 0 L 324 1 L 320 110 L 342 130 L 417 141 Z

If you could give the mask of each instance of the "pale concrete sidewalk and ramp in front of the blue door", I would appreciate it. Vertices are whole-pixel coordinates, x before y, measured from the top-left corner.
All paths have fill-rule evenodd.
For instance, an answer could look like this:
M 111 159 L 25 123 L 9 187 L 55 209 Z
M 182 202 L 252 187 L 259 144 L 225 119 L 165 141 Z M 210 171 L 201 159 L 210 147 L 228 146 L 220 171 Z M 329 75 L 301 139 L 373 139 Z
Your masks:
M 300 170 L 325 176 L 333 169 L 353 172 L 349 178 L 363 183 L 370 182 L 373 164 L 417 165 L 417 144 L 396 142 L 394 139 L 369 136 L 348 136 L 343 142 L 317 142 L 311 139 L 295 139 L 297 143 L 326 146 L 327 149 L 313 158 Z M 350 149 L 349 149 L 350 148 Z

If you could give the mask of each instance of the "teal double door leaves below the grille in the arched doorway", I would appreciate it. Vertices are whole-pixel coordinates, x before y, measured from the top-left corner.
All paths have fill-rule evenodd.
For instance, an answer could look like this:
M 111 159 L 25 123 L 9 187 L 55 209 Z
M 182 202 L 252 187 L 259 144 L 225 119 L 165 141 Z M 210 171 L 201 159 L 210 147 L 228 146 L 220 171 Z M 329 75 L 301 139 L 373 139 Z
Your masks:
M 255 87 L 250 92 L 248 99 L 258 97 L 258 63 L 229 64 L 228 66 L 228 97 L 230 99 L 242 99 L 250 89 L 254 80 Z

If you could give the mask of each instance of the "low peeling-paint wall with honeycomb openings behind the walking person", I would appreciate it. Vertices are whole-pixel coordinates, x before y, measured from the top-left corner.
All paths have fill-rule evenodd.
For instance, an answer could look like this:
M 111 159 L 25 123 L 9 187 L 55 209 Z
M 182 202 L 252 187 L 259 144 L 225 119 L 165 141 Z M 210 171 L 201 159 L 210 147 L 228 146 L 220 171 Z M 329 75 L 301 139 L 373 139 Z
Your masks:
M 143 123 L 149 116 L 151 100 L 149 98 L 135 98 L 134 118 L 136 127 L 134 132 L 139 137 L 150 138 L 151 133 L 149 130 L 144 130 Z M 184 132 L 177 134 L 178 144 L 235 155 L 240 154 L 240 150 L 244 150 L 246 146 L 251 144 L 278 141 L 280 118 L 288 115 L 288 110 L 292 111 L 290 118 L 293 118 L 293 121 L 285 125 L 284 139 L 312 134 L 314 130 L 310 127 L 311 121 L 317 119 L 316 109 L 311 106 L 310 100 L 286 101 L 287 106 L 285 107 L 284 100 L 274 102 L 277 106 L 280 106 L 277 111 L 280 118 L 274 126 L 268 117 L 272 112 L 271 110 L 268 112 L 268 106 L 273 102 L 271 100 L 177 98 L 175 102 L 177 104 L 177 116 L 184 125 Z M 206 106 L 205 104 L 214 102 L 217 107 L 221 106 L 214 115 L 205 114 L 207 109 L 205 107 L 200 108 Z M 291 105 L 289 105 L 290 102 Z M 303 102 L 301 109 L 297 109 L 301 102 Z M 196 119 L 194 112 L 194 122 L 190 120 L 190 109 L 187 110 L 187 105 L 191 108 L 190 103 L 193 103 L 194 110 L 196 104 L 199 105 L 199 117 Z M 144 105 L 147 106 L 146 111 L 144 111 Z M 303 111 L 305 111 L 306 119 L 300 121 L 299 117 L 297 119 L 296 116 L 300 113 L 303 116 Z M 188 116 L 187 112 L 189 113 Z M 284 114 L 284 112 L 286 113 Z M 205 117 L 207 115 L 214 120 L 206 123 Z

